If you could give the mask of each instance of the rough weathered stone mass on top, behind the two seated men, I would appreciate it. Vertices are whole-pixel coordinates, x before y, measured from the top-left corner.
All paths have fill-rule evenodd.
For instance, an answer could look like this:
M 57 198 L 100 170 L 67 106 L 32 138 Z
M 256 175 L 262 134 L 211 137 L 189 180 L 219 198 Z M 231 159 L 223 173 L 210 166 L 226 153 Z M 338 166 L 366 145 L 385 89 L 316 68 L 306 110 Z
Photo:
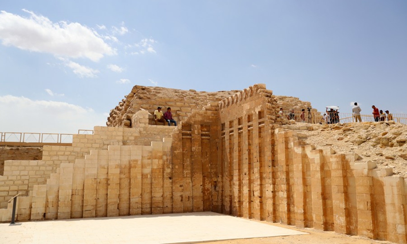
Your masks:
M 276 101 L 277 105 L 273 107 L 273 110 L 282 107 L 284 110 L 296 109 L 300 111 L 307 107 L 311 108 L 310 102 L 303 102 L 299 98 L 287 97 L 287 96 L 271 96 L 273 91 L 266 89 L 264 84 L 256 84 L 258 89 L 257 93 L 263 94 L 265 97 Z M 232 97 L 233 96 L 233 97 Z M 157 109 L 158 106 L 162 107 L 163 113 L 167 107 L 171 107 L 171 113 L 173 119 L 181 121 L 185 117 L 192 113 L 192 109 L 201 110 L 203 107 L 210 103 L 208 110 L 216 111 L 218 103 L 223 99 L 230 98 L 236 101 L 241 100 L 243 97 L 247 97 L 247 91 L 239 93 L 239 90 L 220 91 L 220 92 L 197 92 L 194 89 L 180 90 L 164 87 L 150 87 L 135 85 L 129 95 L 125 96 L 119 102 L 119 105 L 110 110 L 109 117 L 107 118 L 106 126 L 109 127 L 132 127 L 128 125 L 128 122 L 124 123 L 124 120 L 130 120 L 133 114 L 140 109 L 145 109 L 151 114 Z M 312 109 L 312 112 L 317 112 L 316 109 Z M 316 113 L 319 116 L 319 113 Z M 273 115 L 274 116 L 274 115 Z M 315 118 L 315 119 L 319 119 Z M 275 120 L 275 119 L 273 119 Z M 288 124 L 286 118 L 281 118 L 279 124 Z M 150 125 L 153 125 L 153 121 L 150 121 Z

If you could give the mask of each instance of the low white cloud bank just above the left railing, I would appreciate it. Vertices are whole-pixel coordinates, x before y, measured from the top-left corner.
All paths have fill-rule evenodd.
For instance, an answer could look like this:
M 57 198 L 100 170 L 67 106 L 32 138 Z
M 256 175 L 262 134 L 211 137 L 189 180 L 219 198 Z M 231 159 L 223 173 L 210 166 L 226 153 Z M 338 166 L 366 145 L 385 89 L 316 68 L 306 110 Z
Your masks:
M 78 130 L 105 126 L 107 120 L 105 114 L 98 114 L 91 108 L 11 95 L 0 96 L 0 111 L 9 115 L 9 119 L 0 122 L 2 132 L 74 134 Z

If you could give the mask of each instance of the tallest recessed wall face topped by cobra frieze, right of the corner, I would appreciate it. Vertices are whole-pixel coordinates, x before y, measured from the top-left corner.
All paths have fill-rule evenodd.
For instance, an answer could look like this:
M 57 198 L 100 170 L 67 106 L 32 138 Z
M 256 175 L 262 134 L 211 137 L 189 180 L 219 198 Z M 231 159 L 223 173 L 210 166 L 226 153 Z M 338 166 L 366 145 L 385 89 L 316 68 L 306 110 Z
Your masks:
M 220 189 L 225 214 L 266 219 L 268 202 L 261 196 L 270 195 L 271 177 L 259 175 L 271 166 L 272 143 L 266 138 L 272 138 L 276 106 L 272 91 L 261 84 L 220 104 Z

